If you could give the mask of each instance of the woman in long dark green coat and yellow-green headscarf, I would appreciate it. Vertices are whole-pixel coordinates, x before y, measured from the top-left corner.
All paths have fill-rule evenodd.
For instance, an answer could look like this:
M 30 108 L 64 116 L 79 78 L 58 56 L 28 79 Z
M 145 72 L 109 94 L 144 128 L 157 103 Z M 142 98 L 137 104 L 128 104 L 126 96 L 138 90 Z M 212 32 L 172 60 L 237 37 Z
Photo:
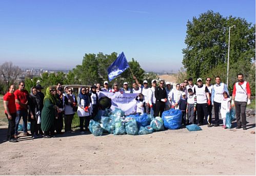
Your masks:
M 42 110 L 41 121 L 41 128 L 44 131 L 44 138 L 51 138 L 50 130 L 53 128 L 55 109 L 58 111 L 58 106 L 56 105 L 55 98 L 52 93 L 52 88 L 48 87 L 46 89 L 46 95 L 44 98 L 44 107 Z

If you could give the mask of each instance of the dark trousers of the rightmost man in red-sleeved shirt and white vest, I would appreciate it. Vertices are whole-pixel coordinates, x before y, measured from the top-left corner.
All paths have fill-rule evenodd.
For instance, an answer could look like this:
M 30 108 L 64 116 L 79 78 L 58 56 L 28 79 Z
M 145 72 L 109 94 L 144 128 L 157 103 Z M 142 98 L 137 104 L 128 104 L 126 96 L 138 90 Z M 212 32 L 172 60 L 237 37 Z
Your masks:
M 246 109 L 247 102 L 234 101 L 235 116 L 237 117 L 237 125 L 246 127 Z M 242 121 L 242 123 L 241 123 Z

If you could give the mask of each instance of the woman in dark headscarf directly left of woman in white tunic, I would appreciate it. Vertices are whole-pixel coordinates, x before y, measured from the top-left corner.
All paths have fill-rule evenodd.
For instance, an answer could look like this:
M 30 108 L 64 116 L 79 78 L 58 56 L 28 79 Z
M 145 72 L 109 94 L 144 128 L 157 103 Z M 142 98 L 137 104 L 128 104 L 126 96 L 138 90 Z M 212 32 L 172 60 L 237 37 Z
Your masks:
M 65 132 L 71 132 L 72 120 L 75 112 L 77 111 L 77 101 L 75 95 L 73 95 L 73 90 L 68 89 L 68 94 L 65 96 Z M 76 109 L 75 109 L 76 108 Z

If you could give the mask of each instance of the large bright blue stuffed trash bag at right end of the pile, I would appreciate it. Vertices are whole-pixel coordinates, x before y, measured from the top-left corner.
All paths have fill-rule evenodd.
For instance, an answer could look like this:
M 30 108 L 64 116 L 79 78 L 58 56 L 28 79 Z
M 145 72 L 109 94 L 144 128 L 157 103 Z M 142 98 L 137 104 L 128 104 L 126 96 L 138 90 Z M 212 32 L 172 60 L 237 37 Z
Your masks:
M 168 129 L 179 129 L 182 122 L 182 112 L 179 109 L 170 109 L 162 115 L 164 126 Z

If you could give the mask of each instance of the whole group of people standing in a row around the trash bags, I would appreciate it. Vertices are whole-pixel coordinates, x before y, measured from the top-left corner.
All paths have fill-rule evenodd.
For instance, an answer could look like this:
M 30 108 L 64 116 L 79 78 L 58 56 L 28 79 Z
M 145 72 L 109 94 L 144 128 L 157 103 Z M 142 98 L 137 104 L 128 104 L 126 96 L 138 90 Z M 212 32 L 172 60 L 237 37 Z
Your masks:
M 124 82 L 120 89 L 117 83 L 113 84 L 112 89 L 108 81 L 104 81 L 103 88 L 97 83 L 91 87 L 83 86 L 77 97 L 73 94 L 72 87 L 57 83 L 54 87 L 48 87 L 46 94 L 42 93 L 40 84 L 31 87 L 30 93 L 25 90 L 25 82 L 18 84 L 15 90 L 14 85 L 9 87 L 9 91 L 4 96 L 5 114 L 8 119 L 8 140 L 17 142 L 18 124 L 23 118 L 23 135 L 38 138 L 43 135 L 44 138 L 54 137 L 56 134 L 63 134 L 63 118 L 65 132 L 72 131 L 71 124 L 75 112 L 80 118 L 80 131 L 84 134 L 88 130 L 89 121 L 95 117 L 99 111 L 98 93 L 121 92 L 137 94 L 137 113 L 152 114 L 155 117 L 162 117 L 164 111 L 170 108 L 180 109 L 182 111 L 183 124 L 203 125 L 204 118 L 208 127 L 211 127 L 212 107 L 214 108 L 214 126 L 220 125 L 219 111 L 225 126 L 225 116 L 231 106 L 235 106 L 237 116 L 237 127 L 246 129 L 246 105 L 250 104 L 250 86 L 244 81 L 243 74 L 238 74 L 238 82 L 234 84 L 232 98 L 229 98 L 227 85 L 221 82 L 220 76 L 215 77 L 215 84 L 212 85 L 211 78 L 207 77 L 205 84 L 198 78 L 197 84 L 193 84 L 193 79 L 185 79 L 183 83 L 178 83 L 172 88 L 170 82 L 160 79 L 157 86 L 157 80 L 151 81 L 151 87 L 148 81 L 143 84 L 135 76 L 132 87 Z M 164 84 L 166 86 L 164 86 Z M 28 133 L 27 122 L 30 121 L 30 131 Z M 85 125 L 84 125 L 85 124 Z

